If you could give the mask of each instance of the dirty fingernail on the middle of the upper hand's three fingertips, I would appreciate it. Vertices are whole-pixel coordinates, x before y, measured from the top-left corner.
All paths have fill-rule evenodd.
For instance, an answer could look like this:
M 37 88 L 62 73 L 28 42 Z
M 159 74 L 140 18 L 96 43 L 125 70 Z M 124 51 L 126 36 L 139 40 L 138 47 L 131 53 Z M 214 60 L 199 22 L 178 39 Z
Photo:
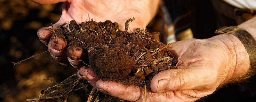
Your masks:
M 53 49 L 60 51 L 64 47 L 66 47 L 67 44 L 65 41 L 63 41 L 63 39 L 53 38 L 53 39 L 51 39 L 51 45 L 52 45 Z

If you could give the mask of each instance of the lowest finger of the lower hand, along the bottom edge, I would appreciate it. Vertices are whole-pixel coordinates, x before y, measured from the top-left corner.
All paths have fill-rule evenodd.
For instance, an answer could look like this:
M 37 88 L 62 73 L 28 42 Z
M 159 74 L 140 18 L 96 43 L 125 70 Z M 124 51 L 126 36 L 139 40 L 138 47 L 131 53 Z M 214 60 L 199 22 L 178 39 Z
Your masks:
M 122 100 L 131 102 L 144 101 L 144 88 L 139 86 L 126 86 L 121 83 L 99 80 L 96 82 L 96 87 L 99 91 Z M 179 99 L 174 95 L 173 91 L 154 93 L 147 90 L 146 93 L 146 102 L 176 102 L 175 100 Z

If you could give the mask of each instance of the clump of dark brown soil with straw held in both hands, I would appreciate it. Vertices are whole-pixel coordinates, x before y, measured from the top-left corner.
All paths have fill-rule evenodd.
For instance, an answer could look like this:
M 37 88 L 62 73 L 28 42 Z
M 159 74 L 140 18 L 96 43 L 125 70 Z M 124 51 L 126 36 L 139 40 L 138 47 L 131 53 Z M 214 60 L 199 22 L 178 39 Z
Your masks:
M 175 68 L 167 46 L 159 41 L 159 33 L 148 33 L 144 29 L 127 32 L 118 29 L 116 22 L 95 22 L 77 24 L 75 20 L 54 28 L 52 38 L 62 37 L 68 46 L 81 47 L 87 54 L 87 64 L 103 81 L 115 81 L 125 85 L 147 85 L 160 71 Z M 89 61 L 89 63 L 88 63 Z M 89 68 L 89 67 L 88 67 Z

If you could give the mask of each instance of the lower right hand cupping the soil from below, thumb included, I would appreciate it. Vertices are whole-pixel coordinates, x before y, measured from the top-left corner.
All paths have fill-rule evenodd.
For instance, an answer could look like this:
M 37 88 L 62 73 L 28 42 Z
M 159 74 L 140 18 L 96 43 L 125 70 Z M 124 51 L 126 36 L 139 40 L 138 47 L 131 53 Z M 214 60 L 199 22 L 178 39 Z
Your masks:
M 179 60 L 177 69 L 161 71 L 151 80 L 147 102 L 191 102 L 212 94 L 218 87 L 236 82 L 249 69 L 249 56 L 232 34 L 209 39 L 178 41 L 169 46 Z M 141 102 L 144 89 L 102 81 L 92 69 L 81 68 L 80 78 L 116 98 Z

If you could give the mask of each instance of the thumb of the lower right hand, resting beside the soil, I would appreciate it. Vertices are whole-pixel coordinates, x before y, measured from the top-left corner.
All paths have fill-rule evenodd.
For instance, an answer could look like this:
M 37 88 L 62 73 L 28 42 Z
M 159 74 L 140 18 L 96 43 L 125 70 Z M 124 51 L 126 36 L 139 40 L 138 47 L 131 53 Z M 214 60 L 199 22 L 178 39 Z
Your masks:
M 193 66 L 193 65 L 190 65 Z M 179 91 L 179 90 L 212 90 L 217 87 L 217 74 L 209 70 L 209 66 L 194 65 L 187 69 L 168 69 L 161 71 L 151 80 L 153 92 Z

